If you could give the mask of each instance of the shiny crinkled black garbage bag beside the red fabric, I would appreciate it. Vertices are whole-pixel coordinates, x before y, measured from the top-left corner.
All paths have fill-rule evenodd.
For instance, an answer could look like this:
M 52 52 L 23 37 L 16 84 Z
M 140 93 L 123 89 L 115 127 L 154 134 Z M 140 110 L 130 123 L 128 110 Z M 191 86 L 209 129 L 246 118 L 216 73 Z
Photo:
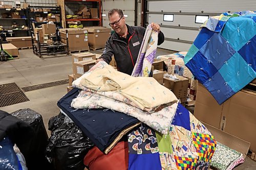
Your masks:
M 59 113 L 50 118 L 47 158 L 57 170 L 84 169 L 83 158 L 94 147 L 90 139 L 68 117 Z

